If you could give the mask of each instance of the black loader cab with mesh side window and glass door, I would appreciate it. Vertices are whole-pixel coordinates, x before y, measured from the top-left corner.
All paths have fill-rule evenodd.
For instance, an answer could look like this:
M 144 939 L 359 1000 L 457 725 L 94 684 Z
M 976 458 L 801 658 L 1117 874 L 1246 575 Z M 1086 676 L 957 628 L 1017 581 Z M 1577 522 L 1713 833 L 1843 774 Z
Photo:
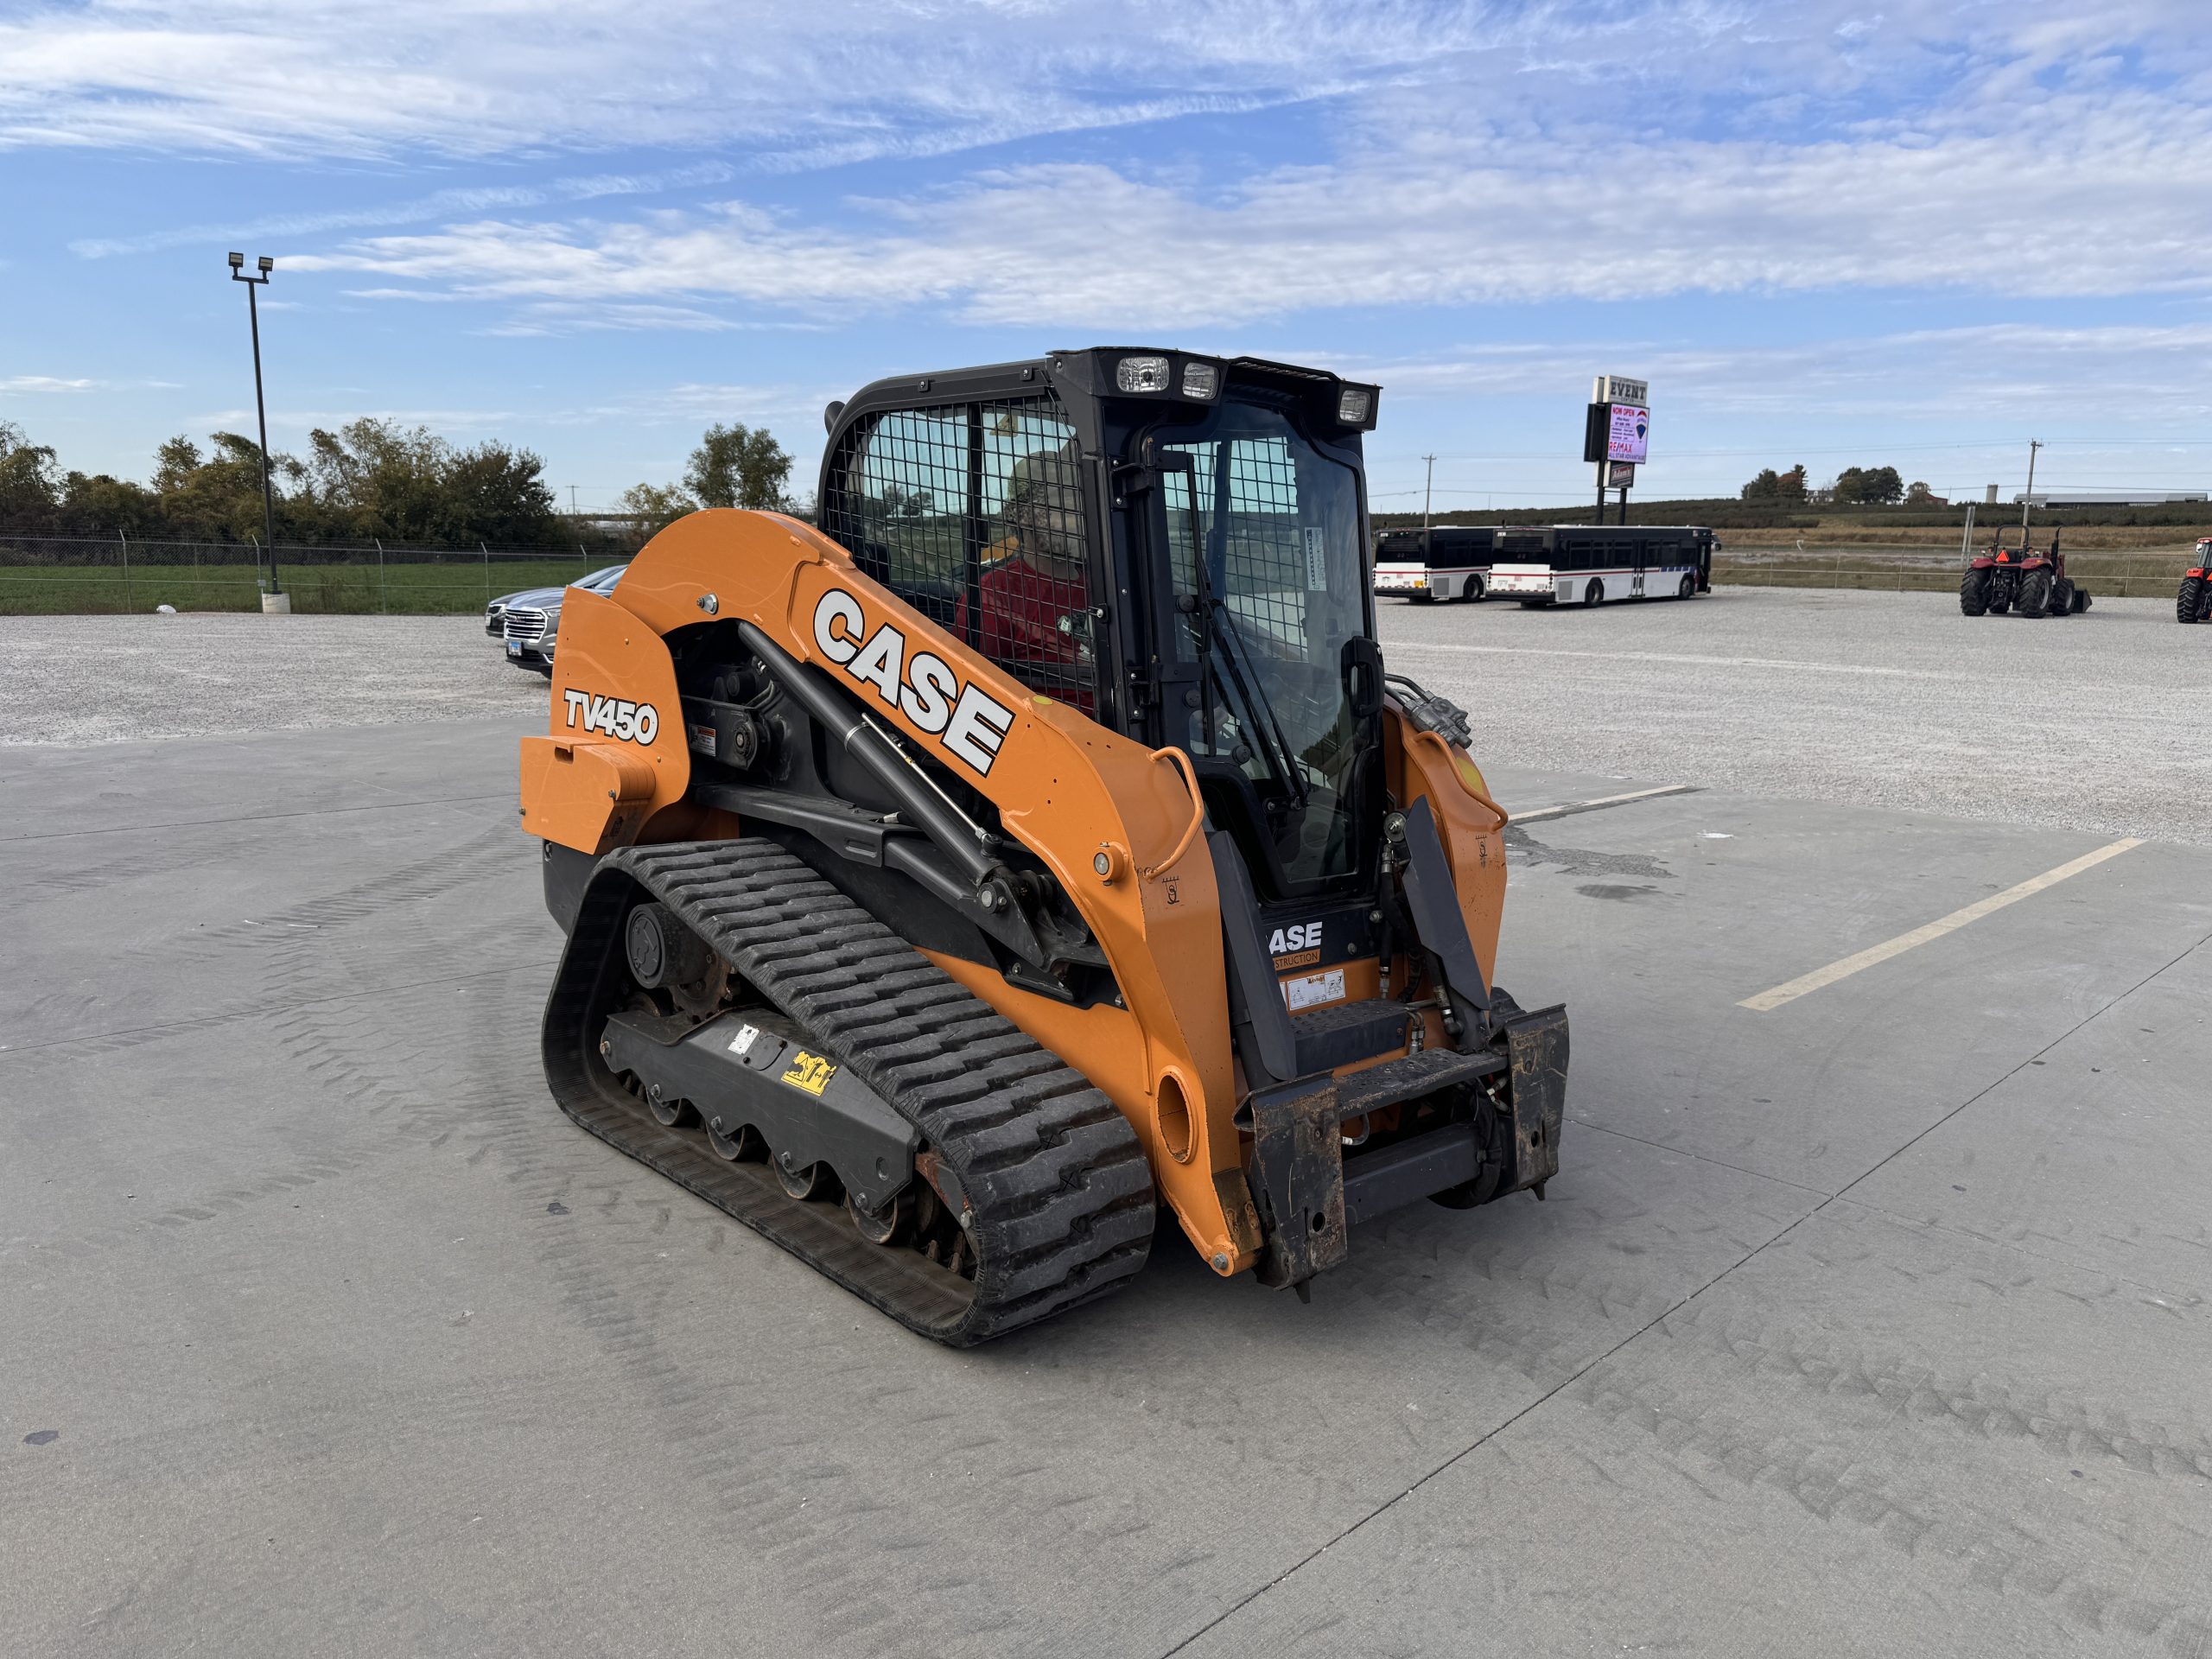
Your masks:
M 821 529 L 1033 692 L 1181 748 L 1263 902 L 1349 898 L 1385 807 L 1376 400 L 1150 347 L 878 380 L 827 411 Z

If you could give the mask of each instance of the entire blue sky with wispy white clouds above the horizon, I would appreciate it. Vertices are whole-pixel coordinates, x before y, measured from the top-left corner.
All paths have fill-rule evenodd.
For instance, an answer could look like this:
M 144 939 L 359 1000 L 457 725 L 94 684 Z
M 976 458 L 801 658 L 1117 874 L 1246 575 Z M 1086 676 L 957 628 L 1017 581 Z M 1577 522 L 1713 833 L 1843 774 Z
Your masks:
M 13 0 L 0 418 L 144 478 L 356 414 L 566 500 L 878 374 L 1159 341 L 1383 380 L 1376 507 L 1805 460 L 2212 484 L 2205 0 Z

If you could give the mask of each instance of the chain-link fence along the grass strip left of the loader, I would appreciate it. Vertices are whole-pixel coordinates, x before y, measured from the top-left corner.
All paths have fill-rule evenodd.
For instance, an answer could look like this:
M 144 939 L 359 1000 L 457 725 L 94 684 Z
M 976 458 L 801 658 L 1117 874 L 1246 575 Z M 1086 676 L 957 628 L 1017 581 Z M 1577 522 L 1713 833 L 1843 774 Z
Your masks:
M 575 582 L 628 553 L 608 544 L 279 546 L 276 580 L 303 613 L 469 613 L 520 588 Z M 0 615 L 259 611 L 268 549 L 252 542 L 0 535 Z

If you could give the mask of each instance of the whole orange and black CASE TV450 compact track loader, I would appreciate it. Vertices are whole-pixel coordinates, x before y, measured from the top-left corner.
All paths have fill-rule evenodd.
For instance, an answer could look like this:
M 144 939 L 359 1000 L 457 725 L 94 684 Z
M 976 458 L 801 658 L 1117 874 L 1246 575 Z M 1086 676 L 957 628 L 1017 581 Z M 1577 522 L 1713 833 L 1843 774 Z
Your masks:
M 1566 1013 L 1491 978 L 1506 814 L 1385 672 L 1376 387 L 1062 352 L 832 405 L 821 526 L 571 593 L 522 827 L 584 1128 L 905 1325 L 1305 1283 L 1544 1194 Z

